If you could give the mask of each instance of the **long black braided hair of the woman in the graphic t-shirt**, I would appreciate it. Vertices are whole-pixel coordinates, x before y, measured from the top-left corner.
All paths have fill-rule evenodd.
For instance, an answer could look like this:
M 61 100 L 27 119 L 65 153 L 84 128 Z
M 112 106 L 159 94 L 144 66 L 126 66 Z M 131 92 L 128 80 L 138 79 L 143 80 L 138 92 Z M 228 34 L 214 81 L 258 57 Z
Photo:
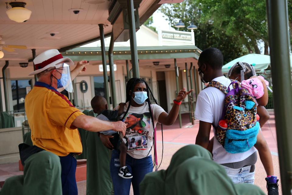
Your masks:
M 126 86 L 126 103 L 129 102 L 129 105 L 127 107 L 127 111 L 125 112 L 125 114 L 123 115 L 123 118 L 121 120 L 123 120 L 126 117 L 127 113 L 129 112 L 129 109 L 130 109 L 130 106 L 131 106 L 131 101 L 133 101 L 132 95 L 134 94 L 134 88 L 138 83 L 145 83 L 145 85 L 146 85 L 146 91 L 147 91 L 147 97 L 148 97 L 146 99 L 146 102 L 148 103 L 148 108 L 149 108 L 150 117 L 151 117 L 151 121 L 152 121 L 152 126 L 153 126 L 153 130 L 154 130 L 155 129 L 155 125 L 154 125 L 153 113 L 152 113 L 152 110 L 151 110 L 151 101 L 150 101 L 150 98 L 149 98 L 149 92 L 150 92 L 153 100 L 155 101 L 155 104 L 158 105 L 158 103 L 157 103 L 156 99 L 154 98 L 153 93 L 152 93 L 150 87 L 148 86 L 148 84 L 146 83 L 146 81 L 144 79 L 141 79 L 141 78 L 131 78 L 127 82 L 127 86 Z M 159 167 L 160 167 L 160 165 L 162 163 L 162 158 L 163 158 L 163 130 L 162 130 L 162 124 L 161 124 L 161 133 L 162 133 L 162 157 L 161 157 L 161 162 L 159 164 Z M 155 143 L 155 138 L 153 136 L 153 144 L 151 146 L 151 149 L 150 149 L 149 153 L 151 152 L 154 143 Z M 149 153 L 147 154 L 147 156 L 149 155 Z M 154 151 L 154 156 L 155 156 L 155 151 Z M 156 162 L 155 162 L 155 158 L 154 158 L 153 168 L 155 167 L 155 163 Z

